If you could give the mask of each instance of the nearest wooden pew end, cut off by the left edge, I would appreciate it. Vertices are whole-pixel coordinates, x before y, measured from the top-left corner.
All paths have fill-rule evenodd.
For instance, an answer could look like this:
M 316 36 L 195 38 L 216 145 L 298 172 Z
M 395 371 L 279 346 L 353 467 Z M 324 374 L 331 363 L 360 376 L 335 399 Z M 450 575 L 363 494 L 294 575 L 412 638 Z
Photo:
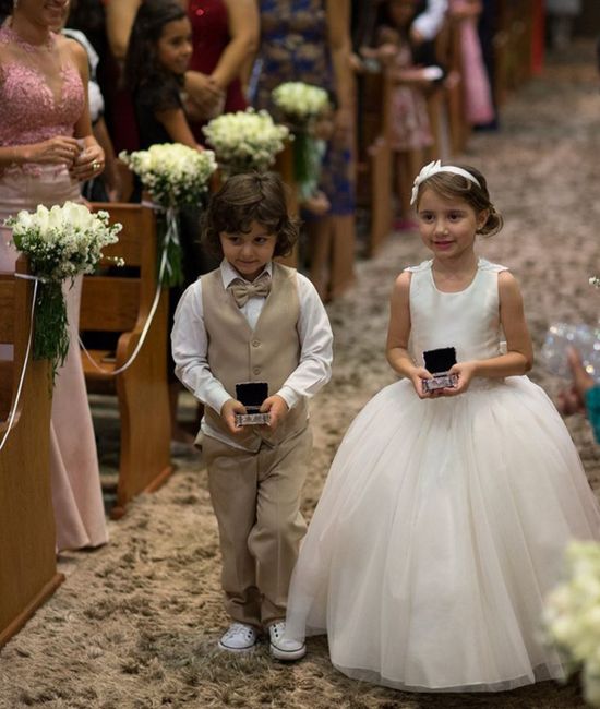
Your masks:
M 17 271 L 26 272 L 23 257 Z M 0 341 L 13 345 L 12 360 L 0 362 L 0 441 L 26 354 L 32 297 L 32 281 L 0 274 Z M 56 566 L 48 376 L 49 362 L 29 354 L 13 428 L 0 450 L 0 647 L 63 580 Z

